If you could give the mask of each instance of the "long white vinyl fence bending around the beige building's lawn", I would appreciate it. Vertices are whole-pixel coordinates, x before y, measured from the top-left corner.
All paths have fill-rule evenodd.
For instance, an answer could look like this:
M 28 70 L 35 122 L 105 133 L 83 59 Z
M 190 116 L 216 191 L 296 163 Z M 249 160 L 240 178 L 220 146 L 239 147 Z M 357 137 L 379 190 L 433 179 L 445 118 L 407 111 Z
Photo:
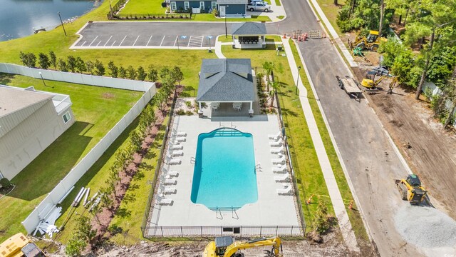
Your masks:
M 115 79 L 105 76 L 92 76 L 84 74 L 73 74 L 61 71 L 48 71 L 43 69 L 33 69 L 16 64 L 0 64 L 0 72 L 9 74 L 21 74 L 31 76 L 36 79 L 65 81 L 76 84 L 86 84 L 90 86 L 104 86 L 116 89 L 127 89 L 133 91 L 145 92 L 136 104 L 123 116 L 120 121 L 98 142 L 82 160 L 74 166 L 71 171 L 63 178 L 53 190 L 48 193 L 48 196 L 36 206 L 36 208 L 22 221 L 22 225 L 28 233 L 33 233 L 36 226 L 40 222 L 40 216 L 46 212 L 46 207 L 49 205 L 56 206 L 58 201 L 66 194 L 68 190 L 88 171 L 88 169 L 100 158 L 100 156 L 108 149 L 128 125 L 141 113 L 145 105 L 155 95 L 155 83 L 145 81 L 133 81 L 128 79 Z M 41 72 L 41 76 L 40 76 Z M 40 215 L 41 214 L 41 215 Z

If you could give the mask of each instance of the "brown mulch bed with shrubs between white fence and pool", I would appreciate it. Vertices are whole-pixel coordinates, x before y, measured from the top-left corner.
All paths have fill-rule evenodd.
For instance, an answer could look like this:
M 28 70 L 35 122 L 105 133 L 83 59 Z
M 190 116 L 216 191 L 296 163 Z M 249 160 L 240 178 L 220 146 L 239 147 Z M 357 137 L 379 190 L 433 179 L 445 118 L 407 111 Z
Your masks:
M 177 94 L 180 94 L 182 92 L 182 89 L 182 86 L 177 86 Z M 130 186 L 130 182 L 138 171 L 140 163 L 142 162 L 142 158 L 144 158 L 150 146 L 155 141 L 155 136 L 157 136 L 157 133 L 160 130 L 160 126 L 162 126 L 163 121 L 165 121 L 167 111 L 170 110 L 171 104 L 172 98 L 168 99 L 164 112 L 160 110 L 155 111 L 155 124 L 150 129 L 144 141 L 142 141 L 141 151 L 139 153 L 134 153 L 133 161 L 124 171 L 121 171 L 119 173 L 120 183 L 115 186 L 115 195 L 111 195 L 111 198 L 113 199 L 113 205 L 110 208 L 103 208 L 103 210 L 93 218 L 92 226 L 97 230 L 96 238 L 98 240 L 98 243 L 101 243 L 105 239 L 110 238 L 111 235 L 108 231 L 109 224 L 114 218 L 115 213 L 118 211 L 120 203 L 122 202 L 125 193 L 128 190 L 128 187 Z

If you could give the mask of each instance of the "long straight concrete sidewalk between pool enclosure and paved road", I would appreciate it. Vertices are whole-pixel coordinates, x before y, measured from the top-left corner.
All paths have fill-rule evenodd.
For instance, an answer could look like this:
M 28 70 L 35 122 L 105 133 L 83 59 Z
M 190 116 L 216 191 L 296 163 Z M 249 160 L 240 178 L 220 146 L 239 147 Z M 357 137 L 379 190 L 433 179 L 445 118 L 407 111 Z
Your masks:
M 282 42 L 290 64 L 291 73 L 293 74 L 293 79 L 296 81 L 299 71 L 296 67 L 293 53 L 291 52 L 289 39 L 282 39 Z M 306 69 L 306 67 L 304 67 L 304 69 Z M 309 104 L 309 99 L 307 99 L 307 90 L 304 87 L 304 84 L 302 84 L 301 79 L 299 79 L 298 89 L 299 100 L 301 101 L 302 110 L 304 111 L 307 126 L 309 127 L 309 131 L 311 133 L 312 142 L 314 143 L 314 148 L 318 157 L 318 162 L 321 166 L 321 171 L 323 172 L 326 187 L 328 188 L 331 203 L 333 205 L 334 212 L 336 213 L 338 225 L 341 228 L 343 240 L 351 251 L 360 251 L 356 243 L 355 233 L 353 233 L 353 229 L 351 228 L 348 213 L 346 212 L 346 208 L 343 203 L 341 191 L 339 191 L 337 186 L 336 178 L 334 176 L 333 169 L 331 168 L 331 163 L 329 162 L 325 146 L 323 145 L 323 140 L 321 139 L 320 132 L 318 131 L 318 126 L 316 125 L 315 117 Z

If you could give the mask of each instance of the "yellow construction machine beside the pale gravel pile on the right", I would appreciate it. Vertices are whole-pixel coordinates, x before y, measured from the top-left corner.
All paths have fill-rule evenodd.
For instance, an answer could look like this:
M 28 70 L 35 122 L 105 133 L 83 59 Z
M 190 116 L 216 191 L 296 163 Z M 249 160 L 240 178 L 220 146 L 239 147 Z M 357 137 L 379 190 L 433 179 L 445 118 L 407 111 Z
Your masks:
M 410 204 L 418 205 L 424 199 L 427 191 L 421 186 L 421 181 L 415 174 L 410 174 L 405 179 L 396 179 L 396 186 L 398 186 L 400 196 Z

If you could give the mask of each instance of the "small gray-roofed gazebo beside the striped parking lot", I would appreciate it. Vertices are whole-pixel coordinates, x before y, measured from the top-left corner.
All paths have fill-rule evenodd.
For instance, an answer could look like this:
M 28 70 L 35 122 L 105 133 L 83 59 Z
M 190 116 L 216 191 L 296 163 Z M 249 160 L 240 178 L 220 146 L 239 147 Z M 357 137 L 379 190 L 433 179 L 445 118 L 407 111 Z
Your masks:
M 231 26 L 236 49 L 265 48 L 266 24 L 259 22 L 235 23 Z

